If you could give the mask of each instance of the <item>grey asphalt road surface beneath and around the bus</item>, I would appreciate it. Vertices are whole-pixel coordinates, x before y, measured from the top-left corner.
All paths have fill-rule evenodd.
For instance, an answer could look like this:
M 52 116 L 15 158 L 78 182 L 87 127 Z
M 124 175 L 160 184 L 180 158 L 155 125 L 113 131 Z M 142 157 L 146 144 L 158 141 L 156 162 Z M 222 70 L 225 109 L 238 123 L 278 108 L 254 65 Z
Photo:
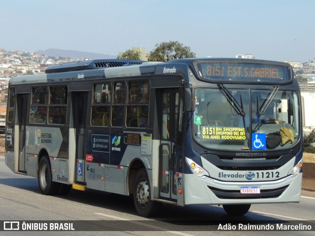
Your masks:
M 3 221 L 19 221 L 20 226 L 26 222 L 29 227 L 39 222 L 47 224 L 48 228 L 50 223 L 61 221 L 73 223 L 80 231 L 0 231 L 0 235 L 314 235 L 315 192 L 302 191 L 300 203 L 252 205 L 244 216 L 229 216 L 219 206 L 164 205 L 158 217 L 148 219 L 136 214 L 133 200 L 128 196 L 73 189 L 66 196 L 44 196 L 40 194 L 37 179 L 12 173 L 5 166 L 4 157 L 0 157 L 0 224 L 4 224 Z M 233 225 L 237 228 L 222 231 L 218 230 L 220 224 L 221 228 Z M 274 227 L 311 225 L 313 231 L 271 232 L 244 228 L 254 224 L 265 227 L 268 224 Z

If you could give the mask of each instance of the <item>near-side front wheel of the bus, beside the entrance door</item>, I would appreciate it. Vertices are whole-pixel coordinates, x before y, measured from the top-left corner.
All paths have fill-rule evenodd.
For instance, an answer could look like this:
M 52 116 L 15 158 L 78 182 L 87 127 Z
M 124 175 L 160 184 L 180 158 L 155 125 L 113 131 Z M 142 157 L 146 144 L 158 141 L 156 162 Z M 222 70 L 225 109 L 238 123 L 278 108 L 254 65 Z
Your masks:
M 160 203 L 151 200 L 150 182 L 147 171 L 140 169 L 136 175 L 133 189 L 134 206 L 140 216 L 154 216 L 158 213 Z

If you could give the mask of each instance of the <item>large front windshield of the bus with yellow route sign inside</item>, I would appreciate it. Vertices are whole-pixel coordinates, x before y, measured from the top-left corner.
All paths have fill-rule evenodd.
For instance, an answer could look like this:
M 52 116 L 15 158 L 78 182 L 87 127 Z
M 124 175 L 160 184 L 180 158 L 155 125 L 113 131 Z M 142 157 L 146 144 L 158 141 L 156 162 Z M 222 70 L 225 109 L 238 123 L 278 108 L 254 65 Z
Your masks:
M 193 127 L 197 142 L 230 150 L 274 150 L 294 145 L 300 129 L 296 92 L 226 89 L 236 103 L 231 103 L 220 88 L 195 89 Z M 234 104 L 245 115 L 237 112 Z

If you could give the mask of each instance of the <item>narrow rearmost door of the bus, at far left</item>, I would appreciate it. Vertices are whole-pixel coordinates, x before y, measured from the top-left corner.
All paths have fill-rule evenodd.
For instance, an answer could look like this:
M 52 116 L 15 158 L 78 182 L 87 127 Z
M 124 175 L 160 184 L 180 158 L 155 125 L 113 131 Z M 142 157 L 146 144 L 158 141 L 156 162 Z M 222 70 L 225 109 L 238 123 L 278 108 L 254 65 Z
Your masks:
M 19 172 L 25 173 L 26 159 L 26 118 L 28 107 L 28 94 L 17 94 L 17 110 L 19 119 Z

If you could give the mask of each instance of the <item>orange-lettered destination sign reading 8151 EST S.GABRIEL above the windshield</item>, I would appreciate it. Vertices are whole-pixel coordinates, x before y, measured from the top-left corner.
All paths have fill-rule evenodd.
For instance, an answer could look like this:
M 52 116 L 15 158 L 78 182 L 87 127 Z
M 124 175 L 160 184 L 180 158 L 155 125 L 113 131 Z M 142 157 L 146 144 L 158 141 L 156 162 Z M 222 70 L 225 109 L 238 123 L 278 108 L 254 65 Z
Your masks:
M 204 79 L 240 81 L 288 81 L 289 67 L 250 63 L 198 63 L 199 74 Z

